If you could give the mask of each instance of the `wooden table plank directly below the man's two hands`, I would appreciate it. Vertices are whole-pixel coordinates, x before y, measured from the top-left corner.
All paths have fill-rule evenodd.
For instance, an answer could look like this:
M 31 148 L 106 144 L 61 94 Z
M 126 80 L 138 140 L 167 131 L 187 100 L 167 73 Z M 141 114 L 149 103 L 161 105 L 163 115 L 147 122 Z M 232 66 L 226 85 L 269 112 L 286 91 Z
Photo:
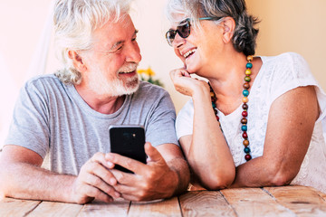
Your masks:
M 112 203 L 92 202 L 83 206 L 78 216 L 127 216 L 129 201 L 118 199 Z

